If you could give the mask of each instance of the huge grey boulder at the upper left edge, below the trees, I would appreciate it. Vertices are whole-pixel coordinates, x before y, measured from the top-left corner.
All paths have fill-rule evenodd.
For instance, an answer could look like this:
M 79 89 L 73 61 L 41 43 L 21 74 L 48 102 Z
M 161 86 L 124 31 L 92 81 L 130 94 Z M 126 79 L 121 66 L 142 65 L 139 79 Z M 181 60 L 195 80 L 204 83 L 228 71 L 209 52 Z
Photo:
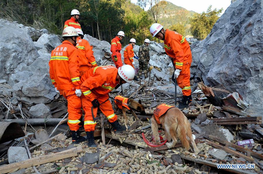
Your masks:
M 0 19 L 0 79 L 9 76 L 20 63 L 30 65 L 39 57 L 27 28 Z

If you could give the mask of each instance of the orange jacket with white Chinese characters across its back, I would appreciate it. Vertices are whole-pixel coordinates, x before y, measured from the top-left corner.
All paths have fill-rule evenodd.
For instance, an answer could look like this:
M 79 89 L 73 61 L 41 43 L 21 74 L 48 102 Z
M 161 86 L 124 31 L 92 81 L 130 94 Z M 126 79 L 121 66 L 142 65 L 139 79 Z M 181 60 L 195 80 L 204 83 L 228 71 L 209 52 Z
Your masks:
M 51 51 L 49 75 L 58 90 L 80 89 L 79 51 L 69 41 Z

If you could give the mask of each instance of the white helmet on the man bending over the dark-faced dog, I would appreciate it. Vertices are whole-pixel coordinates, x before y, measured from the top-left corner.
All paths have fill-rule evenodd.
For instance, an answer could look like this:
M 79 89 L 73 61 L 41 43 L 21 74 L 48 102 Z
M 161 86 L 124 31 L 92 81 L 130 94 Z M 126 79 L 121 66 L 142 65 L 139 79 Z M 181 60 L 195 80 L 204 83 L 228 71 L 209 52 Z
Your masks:
M 135 70 L 130 65 L 123 65 L 118 68 L 118 74 L 123 80 L 125 80 L 128 83 L 131 83 L 135 76 Z

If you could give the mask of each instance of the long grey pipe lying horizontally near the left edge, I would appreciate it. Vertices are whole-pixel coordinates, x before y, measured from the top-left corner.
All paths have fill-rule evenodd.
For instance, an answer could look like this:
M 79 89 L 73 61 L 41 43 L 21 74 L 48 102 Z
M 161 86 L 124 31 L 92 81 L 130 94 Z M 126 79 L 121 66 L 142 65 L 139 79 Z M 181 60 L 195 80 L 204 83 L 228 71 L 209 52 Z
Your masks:
M 58 124 L 62 119 L 1 119 L 3 122 L 14 122 L 18 123 L 19 125 L 25 125 L 26 122 L 30 123 L 31 125 L 56 125 Z

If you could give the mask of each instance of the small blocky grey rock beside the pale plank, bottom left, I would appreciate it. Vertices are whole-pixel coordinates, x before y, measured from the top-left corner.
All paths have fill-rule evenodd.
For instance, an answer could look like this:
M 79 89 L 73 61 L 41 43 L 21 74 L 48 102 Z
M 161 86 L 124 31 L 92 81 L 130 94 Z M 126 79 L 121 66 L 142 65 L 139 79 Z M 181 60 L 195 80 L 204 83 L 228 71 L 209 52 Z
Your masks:
M 9 147 L 7 156 L 9 164 L 29 159 L 25 147 Z

